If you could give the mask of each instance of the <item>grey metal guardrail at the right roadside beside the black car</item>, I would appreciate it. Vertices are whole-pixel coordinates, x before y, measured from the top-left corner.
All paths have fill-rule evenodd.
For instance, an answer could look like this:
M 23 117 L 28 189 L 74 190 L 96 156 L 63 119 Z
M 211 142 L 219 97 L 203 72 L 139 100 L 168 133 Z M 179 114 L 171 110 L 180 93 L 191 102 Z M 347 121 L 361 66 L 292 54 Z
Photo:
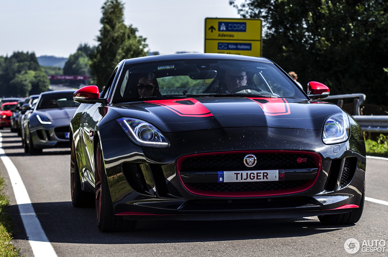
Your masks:
M 388 133 L 388 115 L 360 115 L 360 106 L 365 101 L 365 94 L 336 95 L 325 99 L 339 99 L 337 105 L 342 107 L 343 98 L 355 98 L 353 118 L 360 124 L 362 131 Z

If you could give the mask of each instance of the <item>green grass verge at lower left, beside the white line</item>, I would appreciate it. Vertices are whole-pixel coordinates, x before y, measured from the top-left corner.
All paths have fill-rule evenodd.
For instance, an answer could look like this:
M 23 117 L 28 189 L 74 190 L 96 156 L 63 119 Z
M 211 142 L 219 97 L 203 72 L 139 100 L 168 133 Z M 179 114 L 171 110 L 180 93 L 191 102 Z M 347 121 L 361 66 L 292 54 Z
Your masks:
M 3 193 L 5 181 L 0 177 L 0 256 L 1 257 L 17 257 L 19 249 L 16 249 L 11 243 L 12 239 L 12 223 L 7 207 L 9 205 L 9 197 Z

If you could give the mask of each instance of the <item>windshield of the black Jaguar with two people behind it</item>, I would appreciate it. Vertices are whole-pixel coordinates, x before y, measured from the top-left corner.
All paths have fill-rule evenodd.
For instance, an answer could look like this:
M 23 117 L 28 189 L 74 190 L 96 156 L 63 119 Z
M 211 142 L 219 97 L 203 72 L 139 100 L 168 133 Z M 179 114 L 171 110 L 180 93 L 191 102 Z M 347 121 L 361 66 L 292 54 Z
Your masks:
M 113 102 L 183 95 L 306 99 L 299 87 L 272 63 L 187 59 L 125 66 Z

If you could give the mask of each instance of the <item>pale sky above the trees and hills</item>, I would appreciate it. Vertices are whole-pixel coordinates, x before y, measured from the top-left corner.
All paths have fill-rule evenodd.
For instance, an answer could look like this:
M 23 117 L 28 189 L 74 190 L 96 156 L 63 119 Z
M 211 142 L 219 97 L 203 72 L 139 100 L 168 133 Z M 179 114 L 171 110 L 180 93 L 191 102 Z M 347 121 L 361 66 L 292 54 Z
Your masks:
M 0 56 L 35 52 L 69 57 L 97 45 L 106 0 L 0 0 Z M 229 0 L 121 0 L 124 23 L 147 38 L 150 52 L 204 52 L 207 17 L 239 18 Z M 237 0 L 241 3 L 242 0 Z

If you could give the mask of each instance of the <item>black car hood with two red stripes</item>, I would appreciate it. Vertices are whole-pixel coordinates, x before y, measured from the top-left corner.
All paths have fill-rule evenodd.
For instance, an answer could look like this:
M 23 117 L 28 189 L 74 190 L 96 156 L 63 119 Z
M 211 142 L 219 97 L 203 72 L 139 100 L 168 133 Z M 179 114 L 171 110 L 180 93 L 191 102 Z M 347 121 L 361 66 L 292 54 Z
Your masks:
M 113 104 L 109 120 L 145 120 L 162 132 L 226 127 L 322 129 L 325 120 L 342 110 L 327 102 L 284 98 L 209 97 Z M 113 115 L 113 116 L 111 116 Z

